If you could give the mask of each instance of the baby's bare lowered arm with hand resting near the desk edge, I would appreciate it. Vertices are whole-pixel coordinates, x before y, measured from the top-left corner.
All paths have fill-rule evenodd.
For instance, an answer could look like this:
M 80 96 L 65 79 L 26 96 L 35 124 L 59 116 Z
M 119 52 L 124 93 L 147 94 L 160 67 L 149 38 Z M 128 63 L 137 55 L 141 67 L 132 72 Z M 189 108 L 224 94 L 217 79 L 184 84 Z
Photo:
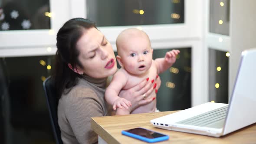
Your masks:
M 112 81 L 108 85 L 105 91 L 105 99 L 108 104 L 113 106 L 113 109 L 117 108 L 128 108 L 131 106 L 131 102 L 125 98 L 120 98 L 118 96 L 121 89 L 125 86 L 127 78 L 123 72 L 116 72 L 113 76 Z

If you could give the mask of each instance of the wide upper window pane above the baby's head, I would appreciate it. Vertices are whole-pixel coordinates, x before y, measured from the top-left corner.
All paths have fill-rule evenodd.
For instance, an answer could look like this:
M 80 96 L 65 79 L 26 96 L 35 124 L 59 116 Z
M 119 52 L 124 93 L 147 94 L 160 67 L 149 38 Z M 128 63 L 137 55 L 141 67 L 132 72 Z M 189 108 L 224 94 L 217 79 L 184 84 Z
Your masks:
M 184 23 L 184 0 L 86 0 L 97 26 Z

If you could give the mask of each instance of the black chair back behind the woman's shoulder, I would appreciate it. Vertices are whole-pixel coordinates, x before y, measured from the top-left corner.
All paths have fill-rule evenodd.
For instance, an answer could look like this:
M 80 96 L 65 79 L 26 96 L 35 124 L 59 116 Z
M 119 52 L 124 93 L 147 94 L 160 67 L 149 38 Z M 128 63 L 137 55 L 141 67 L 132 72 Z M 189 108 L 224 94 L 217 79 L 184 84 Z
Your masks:
M 49 76 L 43 82 L 43 89 L 45 91 L 46 102 L 50 113 L 51 123 L 53 126 L 53 134 L 56 140 L 56 144 L 63 144 L 60 136 L 57 115 L 59 99 L 56 97 L 56 89 L 54 86 L 53 78 L 51 76 Z

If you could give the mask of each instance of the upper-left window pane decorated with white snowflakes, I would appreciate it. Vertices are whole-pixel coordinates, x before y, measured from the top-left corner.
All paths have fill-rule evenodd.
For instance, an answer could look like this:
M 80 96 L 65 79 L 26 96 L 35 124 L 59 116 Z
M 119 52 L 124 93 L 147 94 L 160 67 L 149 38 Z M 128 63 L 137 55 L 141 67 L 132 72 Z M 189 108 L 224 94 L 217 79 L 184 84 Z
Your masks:
M 2 0 L 0 30 L 50 29 L 49 0 Z

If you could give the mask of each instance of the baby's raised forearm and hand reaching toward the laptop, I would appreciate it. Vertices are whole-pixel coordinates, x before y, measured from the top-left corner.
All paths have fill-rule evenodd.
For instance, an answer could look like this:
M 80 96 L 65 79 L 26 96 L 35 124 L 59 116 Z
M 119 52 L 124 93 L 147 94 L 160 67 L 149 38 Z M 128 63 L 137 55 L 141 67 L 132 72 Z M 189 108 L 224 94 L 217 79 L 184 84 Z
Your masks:
M 171 65 L 176 61 L 176 56 L 180 53 L 179 50 L 173 49 L 166 52 L 164 58 L 155 59 L 156 65 L 158 67 L 158 74 L 166 71 Z

